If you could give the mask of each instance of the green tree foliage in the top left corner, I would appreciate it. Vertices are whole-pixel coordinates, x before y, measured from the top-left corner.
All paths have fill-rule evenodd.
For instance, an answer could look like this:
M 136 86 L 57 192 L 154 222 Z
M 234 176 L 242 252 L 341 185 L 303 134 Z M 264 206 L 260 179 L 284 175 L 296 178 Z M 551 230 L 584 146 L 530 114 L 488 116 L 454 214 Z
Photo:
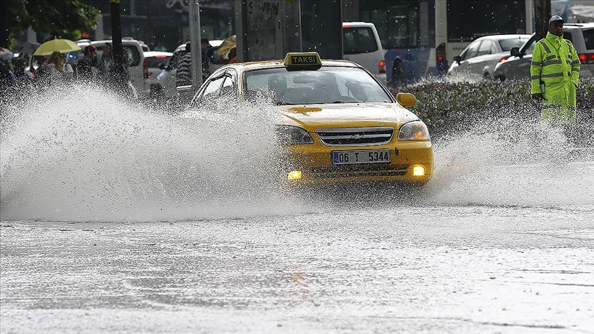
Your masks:
M 81 30 L 97 24 L 99 10 L 82 0 L 0 0 L 8 3 L 8 32 L 15 34 L 32 27 L 43 39 L 78 39 Z

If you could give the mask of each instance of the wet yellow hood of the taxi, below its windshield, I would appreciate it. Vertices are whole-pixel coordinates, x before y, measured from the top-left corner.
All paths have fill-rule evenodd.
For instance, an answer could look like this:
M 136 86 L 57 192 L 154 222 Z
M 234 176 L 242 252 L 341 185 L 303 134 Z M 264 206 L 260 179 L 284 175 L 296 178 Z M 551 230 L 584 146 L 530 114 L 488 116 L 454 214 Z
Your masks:
M 397 103 L 344 103 L 278 106 L 285 125 L 300 126 L 314 132 L 316 129 L 349 128 L 363 126 L 393 126 L 419 120 L 417 115 Z

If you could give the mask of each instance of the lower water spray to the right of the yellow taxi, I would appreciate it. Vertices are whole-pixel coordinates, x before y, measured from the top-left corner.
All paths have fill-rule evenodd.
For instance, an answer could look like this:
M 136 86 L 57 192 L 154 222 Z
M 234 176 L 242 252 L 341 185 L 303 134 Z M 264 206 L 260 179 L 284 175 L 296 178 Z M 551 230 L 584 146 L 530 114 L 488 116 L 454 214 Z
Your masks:
M 430 203 L 594 205 L 594 151 L 562 129 L 503 118 L 442 138 L 434 146 Z

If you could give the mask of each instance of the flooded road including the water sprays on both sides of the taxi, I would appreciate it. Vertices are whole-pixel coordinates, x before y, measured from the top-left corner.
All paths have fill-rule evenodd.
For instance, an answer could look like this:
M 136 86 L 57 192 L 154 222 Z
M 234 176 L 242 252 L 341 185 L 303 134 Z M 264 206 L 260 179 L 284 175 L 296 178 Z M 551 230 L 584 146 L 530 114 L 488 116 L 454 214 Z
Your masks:
M 245 122 L 61 104 L 2 124 L 1 333 L 594 333 L 594 154 L 554 129 L 292 194 Z

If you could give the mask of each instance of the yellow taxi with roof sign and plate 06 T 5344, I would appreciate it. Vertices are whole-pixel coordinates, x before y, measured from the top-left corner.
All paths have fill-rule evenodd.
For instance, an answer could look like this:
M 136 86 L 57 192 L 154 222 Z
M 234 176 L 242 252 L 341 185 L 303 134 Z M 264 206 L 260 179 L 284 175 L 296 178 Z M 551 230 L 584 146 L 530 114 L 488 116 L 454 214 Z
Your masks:
M 427 126 L 369 71 L 349 60 L 321 60 L 316 52 L 285 60 L 236 63 L 217 69 L 192 98 L 268 99 L 282 115 L 276 140 L 291 184 L 414 183 L 431 179 L 433 151 Z M 281 157 L 279 157 L 281 159 Z

